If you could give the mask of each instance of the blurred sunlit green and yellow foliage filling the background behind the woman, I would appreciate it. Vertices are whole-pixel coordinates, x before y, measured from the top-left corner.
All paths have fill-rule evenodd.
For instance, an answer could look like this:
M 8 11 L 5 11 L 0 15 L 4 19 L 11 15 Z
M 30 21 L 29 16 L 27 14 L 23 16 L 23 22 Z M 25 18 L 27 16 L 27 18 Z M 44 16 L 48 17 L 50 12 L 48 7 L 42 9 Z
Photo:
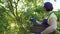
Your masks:
M 30 18 L 42 21 L 46 16 L 43 4 L 43 0 L 0 0 L 0 34 L 30 34 Z M 60 34 L 60 11 L 55 14 L 58 17 L 56 32 Z

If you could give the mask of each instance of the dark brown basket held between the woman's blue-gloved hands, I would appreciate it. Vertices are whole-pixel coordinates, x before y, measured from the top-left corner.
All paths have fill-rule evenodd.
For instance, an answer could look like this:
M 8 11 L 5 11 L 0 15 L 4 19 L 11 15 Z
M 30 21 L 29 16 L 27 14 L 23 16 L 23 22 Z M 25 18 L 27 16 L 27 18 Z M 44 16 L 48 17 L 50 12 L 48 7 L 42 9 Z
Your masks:
M 42 24 L 33 24 L 30 27 L 30 32 L 31 33 L 35 33 L 35 32 L 42 32 L 43 30 L 45 30 L 49 25 L 42 25 Z M 55 31 L 49 34 L 56 34 Z

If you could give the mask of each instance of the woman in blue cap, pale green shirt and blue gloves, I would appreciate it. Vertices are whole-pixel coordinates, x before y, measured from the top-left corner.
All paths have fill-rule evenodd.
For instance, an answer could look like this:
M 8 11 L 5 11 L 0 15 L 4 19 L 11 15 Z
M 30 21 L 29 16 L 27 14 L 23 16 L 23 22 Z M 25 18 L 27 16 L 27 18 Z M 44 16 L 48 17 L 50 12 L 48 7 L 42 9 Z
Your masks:
M 48 18 L 47 18 L 48 22 L 46 22 L 46 23 L 42 22 L 42 24 L 43 25 L 48 24 L 49 26 L 45 30 L 43 30 L 42 32 L 36 32 L 35 34 L 49 34 L 53 31 L 55 31 L 57 28 L 57 17 L 52 11 L 53 10 L 52 4 L 50 2 L 44 3 L 44 9 L 48 14 Z M 33 18 L 31 19 L 31 21 L 36 22 L 36 20 Z

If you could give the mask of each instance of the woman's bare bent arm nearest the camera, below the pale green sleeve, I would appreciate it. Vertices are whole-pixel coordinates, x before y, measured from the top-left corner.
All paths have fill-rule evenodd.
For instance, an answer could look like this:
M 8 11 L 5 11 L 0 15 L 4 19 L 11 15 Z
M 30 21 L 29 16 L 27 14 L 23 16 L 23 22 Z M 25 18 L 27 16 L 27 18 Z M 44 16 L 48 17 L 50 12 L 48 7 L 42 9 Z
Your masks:
M 43 32 L 41 32 L 41 34 L 48 34 L 53 32 L 54 30 L 56 30 L 57 28 L 57 19 L 55 18 L 51 18 L 50 19 L 50 26 L 48 28 L 46 28 Z

